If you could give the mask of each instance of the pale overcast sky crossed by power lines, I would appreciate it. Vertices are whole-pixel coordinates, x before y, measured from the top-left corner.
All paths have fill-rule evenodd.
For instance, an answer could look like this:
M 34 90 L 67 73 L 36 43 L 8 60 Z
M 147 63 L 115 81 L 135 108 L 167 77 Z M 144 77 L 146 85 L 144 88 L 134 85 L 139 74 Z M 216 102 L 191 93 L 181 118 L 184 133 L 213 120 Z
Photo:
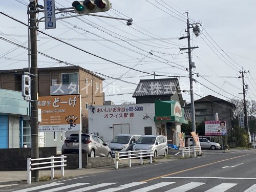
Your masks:
M 73 1 L 55 0 L 56 8 L 70 8 Z M 67 42 L 67 45 L 38 32 L 38 68 L 78 65 L 103 77 L 105 100 L 115 104 L 135 102 L 132 97 L 140 79 L 177 77 L 183 99 L 190 102 L 186 12 L 189 23 L 200 23 L 200 35 L 190 29 L 194 99 L 213 95 L 224 100 L 243 99 L 242 74 L 249 90 L 246 99 L 256 100 L 256 1 L 247 0 L 112 0 L 109 17 L 79 16 L 59 19 L 56 29 L 39 30 Z M 28 23 L 28 0 L 0 1 L 0 11 L 25 24 Z M 38 0 L 39 5 L 44 1 Z M 65 16 L 68 16 L 66 13 Z M 75 15 L 71 13 L 71 15 Z M 62 17 L 56 14 L 56 18 Z M 44 13 L 38 14 L 38 19 Z M 0 70 L 28 67 L 28 28 L 0 14 Z M 13 45 L 12 43 L 15 43 Z M 76 49 L 76 48 L 78 49 Z M 81 51 L 83 50 L 83 51 Z M 66 63 L 59 62 L 65 61 Z M 69 63 L 69 64 L 67 64 Z M 127 68 L 128 67 L 128 68 Z M 197 75 L 198 74 L 198 77 Z

